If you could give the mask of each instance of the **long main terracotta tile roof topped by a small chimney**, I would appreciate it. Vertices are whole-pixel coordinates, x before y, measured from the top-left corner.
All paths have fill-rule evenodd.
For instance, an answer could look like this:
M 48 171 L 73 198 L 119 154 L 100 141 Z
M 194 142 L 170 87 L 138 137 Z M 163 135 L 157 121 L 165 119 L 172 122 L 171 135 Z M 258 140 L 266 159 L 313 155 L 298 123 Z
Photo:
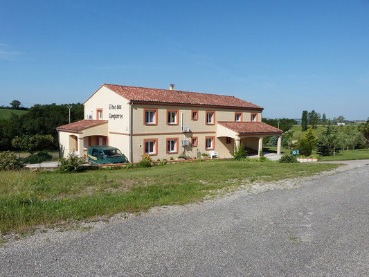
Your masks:
M 128 87 L 118 84 L 102 84 L 132 102 L 165 103 L 168 105 L 204 105 L 213 107 L 263 109 L 251 102 L 234 96 L 175 91 L 170 89 L 150 89 L 145 87 Z

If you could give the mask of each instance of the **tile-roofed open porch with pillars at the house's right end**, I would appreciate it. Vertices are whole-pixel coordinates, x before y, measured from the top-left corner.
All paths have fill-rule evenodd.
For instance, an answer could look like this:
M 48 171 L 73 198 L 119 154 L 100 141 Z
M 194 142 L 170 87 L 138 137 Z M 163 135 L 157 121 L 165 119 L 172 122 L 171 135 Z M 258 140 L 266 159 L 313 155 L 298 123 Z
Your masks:
M 219 121 L 217 138 L 226 138 L 227 143 L 237 147 L 244 145 L 249 154 L 262 156 L 262 141 L 266 136 L 278 136 L 277 154 L 282 145 L 282 130 L 262 122 Z M 255 151 L 254 153 L 252 153 Z

